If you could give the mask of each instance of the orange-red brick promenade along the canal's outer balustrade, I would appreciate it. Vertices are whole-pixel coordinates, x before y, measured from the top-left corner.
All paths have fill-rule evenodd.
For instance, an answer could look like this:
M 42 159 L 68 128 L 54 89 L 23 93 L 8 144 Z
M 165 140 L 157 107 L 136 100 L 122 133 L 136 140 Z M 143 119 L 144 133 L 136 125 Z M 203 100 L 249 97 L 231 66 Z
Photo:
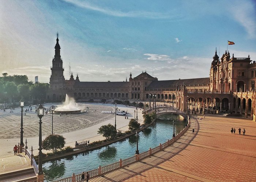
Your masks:
M 256 181 L 256 123 L 238 117 L 199 117 L 172 146 L 90 181 Z M 231 127 L 236 134 L 231 134 Z M 239 127 L 245 128 L 245 136 L 238 134 Z

